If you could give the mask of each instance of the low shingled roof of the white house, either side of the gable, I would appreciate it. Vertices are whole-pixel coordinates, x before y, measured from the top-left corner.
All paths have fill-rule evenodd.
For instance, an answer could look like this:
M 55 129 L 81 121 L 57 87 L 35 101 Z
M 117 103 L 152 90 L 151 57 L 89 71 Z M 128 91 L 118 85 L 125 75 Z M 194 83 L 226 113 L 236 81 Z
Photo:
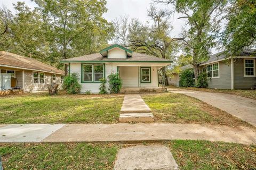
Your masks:
M 171 60 L 167 60 L 164 58 L 159 58 L 147 54 L 142 53 L 132 53 L 132 57 L 128 58 L 107 58 L 103 57 L 100 53 L 84 55 L 80 57 L 68 58 L 66 60 L 61 60 L 61 63 L 74 63 L 74 62 L 144 62 L 144 63 L 172 63 Z

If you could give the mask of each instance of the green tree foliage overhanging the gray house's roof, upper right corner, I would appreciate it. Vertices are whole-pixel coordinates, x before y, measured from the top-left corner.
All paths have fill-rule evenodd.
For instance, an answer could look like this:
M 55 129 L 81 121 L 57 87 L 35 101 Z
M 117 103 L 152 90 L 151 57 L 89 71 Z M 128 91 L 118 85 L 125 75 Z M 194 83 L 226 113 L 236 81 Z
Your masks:
M 222 32 L 222 45 L 227 56 L 235 55 L 244 48 L 256 47 L 256 1 L 231 0 L 227 25 Z

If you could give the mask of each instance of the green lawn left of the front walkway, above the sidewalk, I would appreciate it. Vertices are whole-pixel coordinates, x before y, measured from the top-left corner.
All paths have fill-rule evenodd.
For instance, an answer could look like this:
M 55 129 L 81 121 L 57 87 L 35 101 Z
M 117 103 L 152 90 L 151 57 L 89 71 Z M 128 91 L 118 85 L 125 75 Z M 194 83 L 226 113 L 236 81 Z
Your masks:
M 0 97 L 0 124 L 117 123 L 123 95 L 26 94 Z

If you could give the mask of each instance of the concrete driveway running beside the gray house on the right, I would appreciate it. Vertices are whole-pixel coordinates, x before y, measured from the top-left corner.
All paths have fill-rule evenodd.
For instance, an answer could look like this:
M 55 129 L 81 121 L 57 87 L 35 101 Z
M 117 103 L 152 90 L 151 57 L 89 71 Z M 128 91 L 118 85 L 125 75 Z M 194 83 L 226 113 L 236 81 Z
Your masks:
M 256 100 L 218 92 L 203 92 L 183 89 L 167 89 L 173 93 L 195 97 L 229 114 L 256 126 Z

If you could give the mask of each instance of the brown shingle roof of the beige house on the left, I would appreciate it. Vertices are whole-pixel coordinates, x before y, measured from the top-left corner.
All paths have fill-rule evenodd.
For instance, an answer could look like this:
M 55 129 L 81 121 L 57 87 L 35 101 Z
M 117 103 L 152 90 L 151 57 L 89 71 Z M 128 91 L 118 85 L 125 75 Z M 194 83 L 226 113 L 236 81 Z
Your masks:
M 33 58 L 23 57 L 9 52 L 0 52 L 0 66 L 64 74 L 64 71 L 58 70 L 55 67 L 39 62 Z

